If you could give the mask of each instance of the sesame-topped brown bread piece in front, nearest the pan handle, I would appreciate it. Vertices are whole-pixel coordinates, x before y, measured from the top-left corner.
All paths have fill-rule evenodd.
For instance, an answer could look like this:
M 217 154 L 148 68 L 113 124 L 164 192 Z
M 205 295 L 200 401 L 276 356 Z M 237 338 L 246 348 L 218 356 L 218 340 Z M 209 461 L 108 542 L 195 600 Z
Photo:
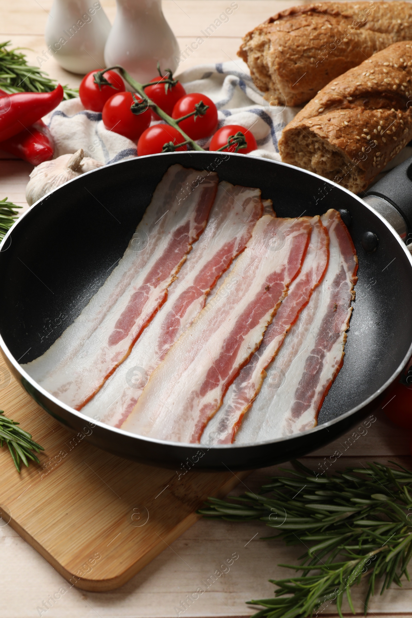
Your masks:
M 330 82 L 285 127 L 282 161 L 354 193 L 412 139 L 412 41 L 393 43 Z

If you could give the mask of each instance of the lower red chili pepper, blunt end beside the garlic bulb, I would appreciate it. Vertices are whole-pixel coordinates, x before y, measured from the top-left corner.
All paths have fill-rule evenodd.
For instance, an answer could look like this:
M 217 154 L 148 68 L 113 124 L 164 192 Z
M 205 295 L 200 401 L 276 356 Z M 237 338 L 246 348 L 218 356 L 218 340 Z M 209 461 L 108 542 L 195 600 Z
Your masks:
M 38 120 L 28 129 L 24 129 L 8 140 L 0 142 L 0 150 L 18 156 L 32 165 L 53 158 L 54 147 L 51 133 L 42 120 Z

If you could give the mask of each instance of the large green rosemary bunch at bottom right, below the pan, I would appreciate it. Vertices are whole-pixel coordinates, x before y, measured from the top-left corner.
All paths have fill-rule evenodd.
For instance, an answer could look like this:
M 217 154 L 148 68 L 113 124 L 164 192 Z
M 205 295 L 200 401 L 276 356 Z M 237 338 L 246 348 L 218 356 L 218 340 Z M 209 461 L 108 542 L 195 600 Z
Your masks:
M 299 462 L 294 464 L 298 470 L 275 476 L 259 494 L 209 498 L 199 512 L 232 522 L 260 519 L 277 529 L 277 535 L 266 539 L 282 538 L 287 545 L 302 543 L 308 548 L 300 565 L 280 565 L 300 571 L 300 577 L 269 580 L 278 586 L 274 598 L 248 601 L 264 607 L 253 618 L 306 618 L 332 603 L 343 618 L 344 595 L 355 614 L 350 588 L 368 574 L 366 615 L 378 579 L 383 579 L 380 594 L 392 582 L 401 586 L 403 575 L 410 580 L 412 471 L 375 462 L 315 476 Z

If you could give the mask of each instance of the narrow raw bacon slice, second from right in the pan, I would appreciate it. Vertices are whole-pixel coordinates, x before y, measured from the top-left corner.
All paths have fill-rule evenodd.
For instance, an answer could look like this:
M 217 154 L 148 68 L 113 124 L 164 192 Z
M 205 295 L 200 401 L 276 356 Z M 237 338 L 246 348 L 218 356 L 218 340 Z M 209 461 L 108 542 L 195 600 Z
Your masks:
M 284 342 L 287 332 L 307 305 L 313 290 L 324 276 L 329 260 L 329 235 L 319 216 L 314 217 L 312 234 L 302 269 L 289 287 L 288 295 L 280 305 L 272 323 L 266 329 L 263 341 L 247 365 L 243 367 L 227 391 L 222 407 L 208 423 L 203 444 L 230 444 L 242 423 L 243 415 L 253 404 L 263 380 L 266 367 Z

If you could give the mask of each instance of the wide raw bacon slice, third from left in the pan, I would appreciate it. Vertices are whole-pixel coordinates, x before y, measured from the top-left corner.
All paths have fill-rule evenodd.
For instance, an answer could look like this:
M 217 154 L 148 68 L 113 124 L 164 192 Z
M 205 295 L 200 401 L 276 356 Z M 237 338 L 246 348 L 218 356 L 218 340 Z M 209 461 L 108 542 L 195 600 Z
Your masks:
M 306 218 L 259 219 L 232 272 L 153 371 L 122 429 L 172 441 L 200 440 L 300 271 L 310 232 Z

